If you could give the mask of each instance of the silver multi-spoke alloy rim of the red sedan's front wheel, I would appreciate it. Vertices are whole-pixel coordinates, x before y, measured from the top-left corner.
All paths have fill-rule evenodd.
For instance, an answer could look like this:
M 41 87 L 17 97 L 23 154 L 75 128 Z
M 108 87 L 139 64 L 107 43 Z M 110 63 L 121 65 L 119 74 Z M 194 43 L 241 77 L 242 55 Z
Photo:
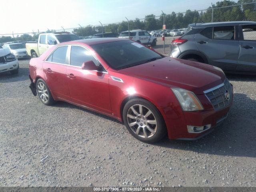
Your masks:
M 150 138 L 156 134 L 157 121 L 153 112 L 144 105 L 131 106 L 127 112 L 130 129 L 142 138 Z

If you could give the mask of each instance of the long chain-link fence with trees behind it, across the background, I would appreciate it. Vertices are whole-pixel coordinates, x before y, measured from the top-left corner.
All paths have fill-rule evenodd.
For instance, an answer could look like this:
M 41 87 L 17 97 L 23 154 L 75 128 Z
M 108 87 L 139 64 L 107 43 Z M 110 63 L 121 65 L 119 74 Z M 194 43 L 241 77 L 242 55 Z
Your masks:
M 77 28 L 63 28 L 59 30 L 47 29 L 44 32 L 69 31 L 77 34 L 81 38 L 92 38 L 95 34 L 98 37 L 107 37 L 113 34 L 118 36 L 121 32 L 142 29 L 150 32 L 157 38 L 154 47 L 158 52 L 170 53 L 170 43 L 173 38 L 184 34 L 189 24 L 206 22 L 228 22 L 228 21 L 256 21 L 256 0 L 220 1 L 212 4 L 205 10 L 187 10 L 186 12 L 172 12 L 170 14 L 162 12 L 161 15 L 149 14 L 144 18 L 129 20 L 124 17 L 124 21 L 112 24 L 88 25 Z M 166 30 L 163 30 L 163 24 Z M 174 31 L 173 31 L 174 30 Z M 244 30 L 246 32 L 246 30 Z M 247 30 L 248 32 L 250 30 Z M 37 40 L 39 30 L 36 32 L 20 34 L 0 34 L 0 43 L 11 42 L 13 40 Z M 108 35 L 107 35 L 108 34 Z M 163 34 L 165 41 L 162 40 Z M 112 36 L 113 37 L 113 36 Z M 165 44 L 165 46 L 164 46 Z M 165 50 L 164 50 L 165 48 Z

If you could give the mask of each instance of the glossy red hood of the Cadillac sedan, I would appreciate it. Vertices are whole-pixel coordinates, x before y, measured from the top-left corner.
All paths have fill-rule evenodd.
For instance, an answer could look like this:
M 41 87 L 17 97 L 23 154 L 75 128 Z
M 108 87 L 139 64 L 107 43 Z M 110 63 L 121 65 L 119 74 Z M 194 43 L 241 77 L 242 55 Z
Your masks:
M 170 88 L 184 88 L 195 94 L 203 94 L 203 91 L 221 84 L 226 78 L 222 71 L 213 66 L 169 57 L 118 70 L 118 72 Z

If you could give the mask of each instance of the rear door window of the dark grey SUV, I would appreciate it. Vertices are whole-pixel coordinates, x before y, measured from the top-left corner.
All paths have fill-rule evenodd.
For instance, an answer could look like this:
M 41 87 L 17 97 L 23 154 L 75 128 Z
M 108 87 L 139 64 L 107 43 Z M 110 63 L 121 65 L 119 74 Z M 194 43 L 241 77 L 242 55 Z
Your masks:
M 223 40 L 234 40 L 235 28 L 234 26 L 228 27 L 214 27 L 213 38 Z

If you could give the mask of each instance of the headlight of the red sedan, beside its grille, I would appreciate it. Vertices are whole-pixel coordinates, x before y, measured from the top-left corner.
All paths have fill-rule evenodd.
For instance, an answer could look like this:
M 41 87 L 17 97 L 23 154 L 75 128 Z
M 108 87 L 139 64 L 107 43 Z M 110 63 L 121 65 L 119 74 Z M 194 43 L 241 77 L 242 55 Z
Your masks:
M 176 98 L 180 102 L 180 106 L 183 111 L 198 111 L 203 110 L 201 102 L 196 95 L 188 90 L 182 88 L 171 88 Z

